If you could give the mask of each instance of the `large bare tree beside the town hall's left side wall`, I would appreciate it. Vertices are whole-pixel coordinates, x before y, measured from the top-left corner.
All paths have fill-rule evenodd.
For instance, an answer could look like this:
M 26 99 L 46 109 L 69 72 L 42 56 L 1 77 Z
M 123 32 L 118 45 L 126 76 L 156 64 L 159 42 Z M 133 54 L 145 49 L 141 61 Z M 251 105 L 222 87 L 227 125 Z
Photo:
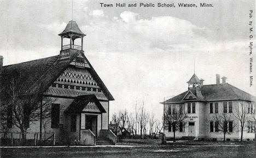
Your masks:
M 26 81 L 22 81 L 22 76 L 19 73 L 12 73 L 5 78 L 5 83 L 1 84 L 4 95 L 1 96 L 1 106 L 6 106 L 5 111 L 1 113 L 7 115 L 11 125 L 15 125 L 22 133 L 26 132 L 30 126 L 30 121 L 39 121 L 51 117 L 51 103 L 50 98 L 44 98 L 43 83 L 40 83 L 39 88 L 33 94 L 26 93 Z M 3 81 L 3 78 L 1 78 Z M 26 94 L 26 95 L 25 95 Z M 1 110 L 3 110 L 1 108 Z M 24 135 L 22 135 L 24 138 Z

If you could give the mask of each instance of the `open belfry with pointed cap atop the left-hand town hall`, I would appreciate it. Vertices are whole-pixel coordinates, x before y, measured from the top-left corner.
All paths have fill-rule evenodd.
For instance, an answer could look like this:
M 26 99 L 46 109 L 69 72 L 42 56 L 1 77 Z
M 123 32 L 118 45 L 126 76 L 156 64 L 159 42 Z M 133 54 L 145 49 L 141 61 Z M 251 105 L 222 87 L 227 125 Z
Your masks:
M 61 58 L 69 57 L 71 51 L 80 51 L 84 53 L 83 38 L 85 37 L 85 34 L 79 29 L 77 22 L 73 20 L 69 21 L 66 28 L 59 34 L 59 36 L 61 37 Z M 66 43 L 64 44 L 63 41 L 65 39 L 69 40 L 66 40 Z M 79 39 L 80 41 L 78 41 Z

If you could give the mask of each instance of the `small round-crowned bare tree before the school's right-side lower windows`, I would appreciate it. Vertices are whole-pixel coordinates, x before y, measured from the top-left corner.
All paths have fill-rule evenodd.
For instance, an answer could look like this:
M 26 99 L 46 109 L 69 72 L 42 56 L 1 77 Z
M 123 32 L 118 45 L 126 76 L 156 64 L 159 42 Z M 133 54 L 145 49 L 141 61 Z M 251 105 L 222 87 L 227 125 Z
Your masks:
M 216 132 L 223 133 L 223 142 L 225 142 L 226 134 L 233 131 L 236 126 L 234 118 L 230 113 L 215 113 L 210 116 L 210 130 L 215 129 Z M 212 124 L 212 125 L 211 125 Z

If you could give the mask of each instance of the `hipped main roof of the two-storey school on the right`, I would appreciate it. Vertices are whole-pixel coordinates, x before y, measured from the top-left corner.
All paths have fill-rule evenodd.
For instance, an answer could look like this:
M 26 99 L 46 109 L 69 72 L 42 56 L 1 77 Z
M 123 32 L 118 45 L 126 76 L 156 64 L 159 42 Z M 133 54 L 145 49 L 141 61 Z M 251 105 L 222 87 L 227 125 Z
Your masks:
M 188 92 L 193 93 L 198 100 L 215 101 L 215 100 L 248 100 L 256 101 L 256 97 L 232 86 L 229 83 L 203 85 L 200 90 L 190 89 L 171 99 L 161 102 L 161 104 L 169 104 L 173 102 L 184 102 L 182 100 Z

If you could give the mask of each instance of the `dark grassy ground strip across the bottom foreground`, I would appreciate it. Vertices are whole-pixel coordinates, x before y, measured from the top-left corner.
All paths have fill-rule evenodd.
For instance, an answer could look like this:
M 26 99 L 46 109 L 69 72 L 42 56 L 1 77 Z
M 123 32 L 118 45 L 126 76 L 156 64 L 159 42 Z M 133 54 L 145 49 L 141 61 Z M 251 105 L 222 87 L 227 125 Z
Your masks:
M 223 143 L 222 143 L 223 144 Z M 218 144 L 216 144 L 218 145 Z M 221 145 L 221 144 L 219 144 Z M 225 145 L 225 144 L 224 144 Z M 253 143 L 240 146 L 181 145 L 97 148 L 1 148 L 1 157 L 253 157 Z

